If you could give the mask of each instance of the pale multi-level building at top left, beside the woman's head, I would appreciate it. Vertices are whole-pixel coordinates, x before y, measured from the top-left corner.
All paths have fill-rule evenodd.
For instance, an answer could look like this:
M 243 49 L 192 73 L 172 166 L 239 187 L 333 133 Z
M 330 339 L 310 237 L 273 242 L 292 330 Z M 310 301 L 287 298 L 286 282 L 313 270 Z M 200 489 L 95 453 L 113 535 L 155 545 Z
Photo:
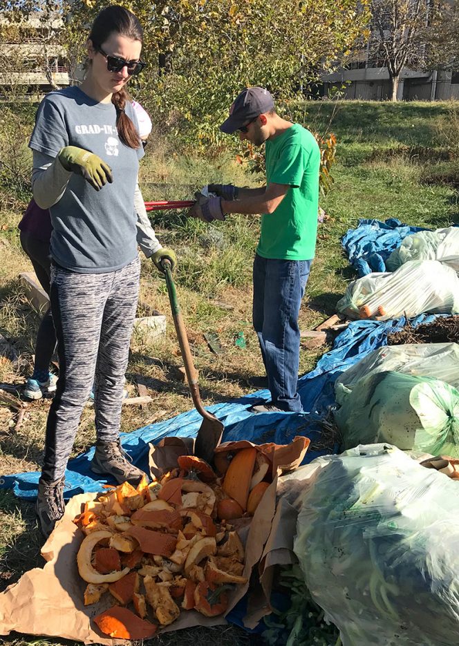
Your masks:
M 44 21 L 31 15 L 20 23 L 0 15 L 0 93 L 13 86 L 24 95 L 43 95 L 71 84 L 64 47 L 59 44 L 62 19 Z

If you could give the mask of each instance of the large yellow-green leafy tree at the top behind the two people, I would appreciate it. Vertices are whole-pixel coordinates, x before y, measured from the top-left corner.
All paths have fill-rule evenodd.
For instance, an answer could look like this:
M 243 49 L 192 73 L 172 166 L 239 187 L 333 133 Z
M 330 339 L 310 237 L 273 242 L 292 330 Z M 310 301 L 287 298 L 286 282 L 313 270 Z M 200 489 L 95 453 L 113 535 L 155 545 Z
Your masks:
M 69 53 L 100 0 L 62 0 Z M 244 86 L 299 95 L 349 53 L 368 22 L 367 0 L 120 0 L 144 27 L 149 67 L 136 88 L 156 122 L 207 146 Z

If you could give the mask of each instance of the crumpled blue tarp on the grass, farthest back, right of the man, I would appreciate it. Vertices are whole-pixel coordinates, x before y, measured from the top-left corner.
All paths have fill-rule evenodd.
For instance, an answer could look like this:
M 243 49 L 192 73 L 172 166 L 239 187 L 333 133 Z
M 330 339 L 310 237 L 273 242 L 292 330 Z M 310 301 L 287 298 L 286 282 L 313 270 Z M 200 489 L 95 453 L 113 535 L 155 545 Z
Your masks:
M 371 272 L 387 272 L 386 260 L 402 244 L 402 240 L 417 231 L 431 231 L 424 227 L 409 227 L 396 218 L 359 220 L 356 229 L 349 229 L 341 240 L 349 262 L 359 276 Z

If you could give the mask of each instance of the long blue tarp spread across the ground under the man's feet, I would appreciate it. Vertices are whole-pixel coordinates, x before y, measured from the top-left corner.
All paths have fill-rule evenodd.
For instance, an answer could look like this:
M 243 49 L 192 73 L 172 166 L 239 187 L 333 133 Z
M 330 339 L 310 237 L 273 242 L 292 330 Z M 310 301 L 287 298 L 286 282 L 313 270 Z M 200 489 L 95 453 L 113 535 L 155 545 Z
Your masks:
M 411 321 L 412 325 L 430 322 L 435 316 L 422 314 Z M 307 435 L 311 444 L 320 439 L 320 419 L 326 415 L 335 401 L 335 379 L 350 365 L 386 345 L 387 335 L 400 330 L 404 317 L 393 321 L 355 321 L 341 332 L 333 349 L 324 354 L 315 370 L 308 372 L 299 380 L 299 393 L 303 402 L 304 413 L 264 413 L 253 415 L 248 412 L 254 399 L 269 399 L 268 390 L 261 390 L 252 395 L 231 402 L 209 406 L 210 411 L 223 421 L 225 434 L 223 441 L 248 439 L 255 444 L 274 441 L 286 444 L 295 435 Z M 167 435 L 194 437 L 202 419 L 196 410 L 184 412 L 172 419 L 149 424 L 132 433 L 122 433 L 121 440 L 133 463 L 147 469 L 149 442 L 157 442 Z M 77 493 L 102 491 L 102 484 L 107 481 L 95 479 L 89 469 L 94 449 L 86 451 L 68 462 L 66 471 L 66 499 Z M 326 451 L 309 450 L 305 462 L 311 462 Z M 0 488 L 12 489 L 21 498 L 33 499 L 37 495 L 39 473 L 18 473 L 8 475 L 0 480 Z

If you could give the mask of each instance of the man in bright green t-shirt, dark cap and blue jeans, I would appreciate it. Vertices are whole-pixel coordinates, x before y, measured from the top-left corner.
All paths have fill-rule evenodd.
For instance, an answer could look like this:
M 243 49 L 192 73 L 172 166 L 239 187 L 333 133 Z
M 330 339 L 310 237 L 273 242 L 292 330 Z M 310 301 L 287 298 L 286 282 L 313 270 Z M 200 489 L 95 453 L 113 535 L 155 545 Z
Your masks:
M 254 412 L 294 411 L 297 392 L 298 316 L 317 236 L 320 151 L 315 137 L 277 115 L 264 88 L 246 88 L 220 126 L 256 146 L 265 144 L 266 185 L 259 189 L 209 184 L 217 197 L 202 198 L 191 215 L 206 222 L 227 213 L 262 213 L 254 260 L 253 324 L 268 375 L 271 401 Z

